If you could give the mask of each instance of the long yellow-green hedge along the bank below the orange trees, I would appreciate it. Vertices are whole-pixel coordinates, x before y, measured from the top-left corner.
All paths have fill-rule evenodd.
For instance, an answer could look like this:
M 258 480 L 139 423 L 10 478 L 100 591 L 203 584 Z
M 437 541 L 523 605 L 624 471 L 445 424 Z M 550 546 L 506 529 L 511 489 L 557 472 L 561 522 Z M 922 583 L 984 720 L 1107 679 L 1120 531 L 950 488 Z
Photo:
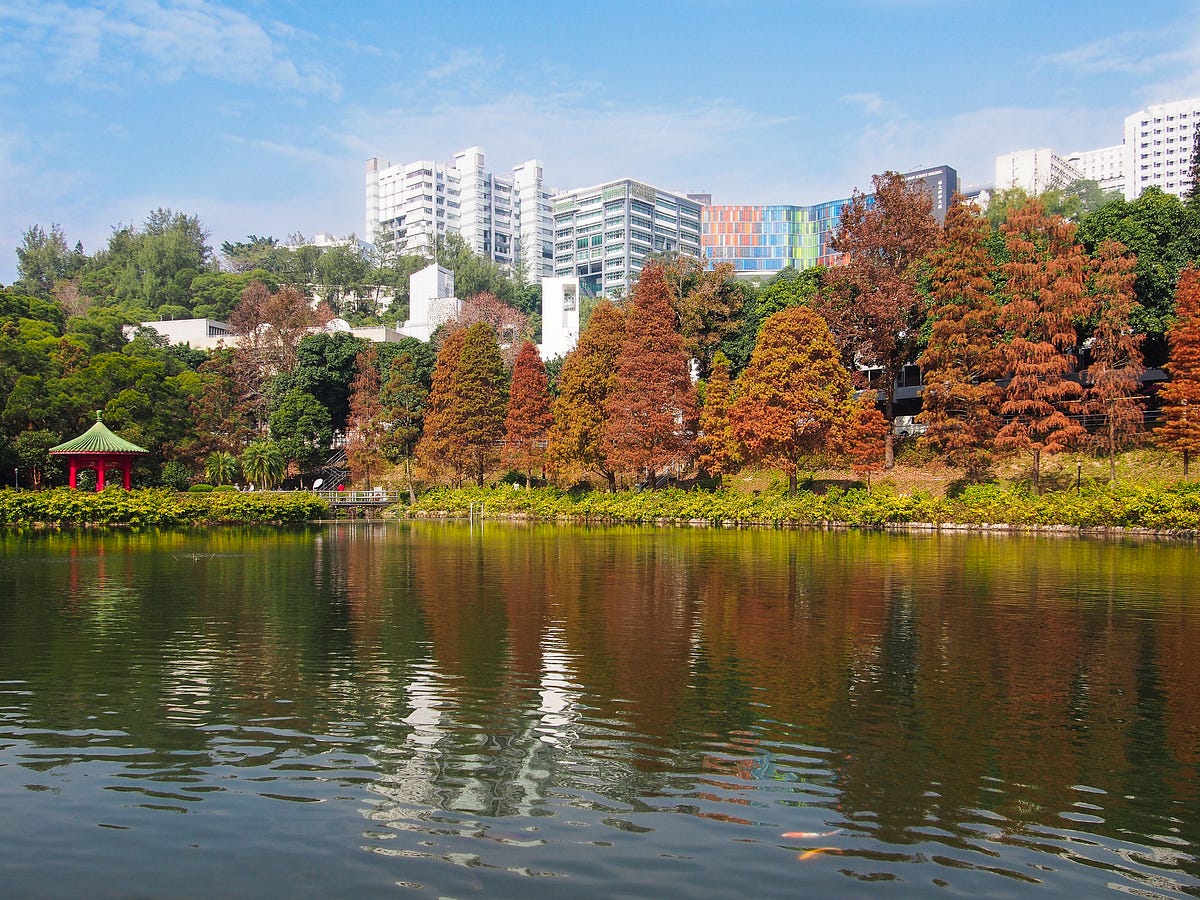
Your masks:
M 973 485 L 956 497 L 895 494 L 876 488 L 830 490 L 824 494 L 782 491 L 760 494 L 665 491 L 570 493 L 552 487 L 533 491 L 438 488 L 421 496 L 410 515 L 464 516 L 482 502 L 488 516 L 524 515 L 580 522 L 704 522 L 720 524 L 964 524 L 1073 528 L 1200 529 L 1200 482 L 1174 485 L 1092 485 L 1081 491 L 1034 496 L 998 485 Z

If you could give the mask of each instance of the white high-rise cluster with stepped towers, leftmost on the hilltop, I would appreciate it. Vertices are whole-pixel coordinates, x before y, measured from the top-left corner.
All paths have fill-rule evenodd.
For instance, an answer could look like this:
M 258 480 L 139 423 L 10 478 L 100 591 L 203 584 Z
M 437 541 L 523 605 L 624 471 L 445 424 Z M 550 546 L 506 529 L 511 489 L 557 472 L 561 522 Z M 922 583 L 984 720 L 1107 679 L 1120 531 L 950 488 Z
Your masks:
M 550 274 L 550 194 L 538 160 L 511 178 L 487 172 L 484 149 L 470 146 L 449 163 L 419 160 L 392 164 L 367 160 L 366 228 L 395 238 L 398 253 L 428 253 L 434 238 L 458 234 L 478 254 L 536 280 Z M 522 204 L 528 211 L 522 217 Z

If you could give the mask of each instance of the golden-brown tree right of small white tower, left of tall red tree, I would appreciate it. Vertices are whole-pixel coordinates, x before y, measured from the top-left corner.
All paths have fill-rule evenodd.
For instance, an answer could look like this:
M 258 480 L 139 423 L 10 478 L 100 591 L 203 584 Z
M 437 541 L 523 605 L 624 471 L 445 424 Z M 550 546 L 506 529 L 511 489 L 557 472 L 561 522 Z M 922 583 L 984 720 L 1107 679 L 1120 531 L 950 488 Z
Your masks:
M 552 462 L 595 473 L 610 491 L 617 470 L 602 440 L 606 401 L 617 380 L 617 358 L 625 340 L 625 313 L 607 300 L 596 304 L 580 340 L 563 360 L 550 430 Z

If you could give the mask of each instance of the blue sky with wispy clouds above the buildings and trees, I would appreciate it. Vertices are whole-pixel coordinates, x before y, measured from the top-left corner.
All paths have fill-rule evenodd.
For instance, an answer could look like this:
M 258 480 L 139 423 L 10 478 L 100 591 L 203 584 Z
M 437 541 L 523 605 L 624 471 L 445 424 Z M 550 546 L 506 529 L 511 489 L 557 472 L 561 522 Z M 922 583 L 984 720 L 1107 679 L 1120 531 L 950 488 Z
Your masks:
M 1196 95 L 1200 0 L 0 0 L 0 282 L 35 223 L 361 232 L 370 156 L 809 204 Z

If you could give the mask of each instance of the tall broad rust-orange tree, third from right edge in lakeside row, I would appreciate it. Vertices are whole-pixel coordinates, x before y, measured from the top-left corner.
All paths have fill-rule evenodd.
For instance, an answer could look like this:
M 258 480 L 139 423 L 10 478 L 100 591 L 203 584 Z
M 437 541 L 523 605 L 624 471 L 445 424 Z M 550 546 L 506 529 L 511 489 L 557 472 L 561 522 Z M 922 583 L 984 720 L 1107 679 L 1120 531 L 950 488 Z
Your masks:
M 1075 366 L 1074 323 L 1088 312 L 1085 258 L 1074 241 L 1075 226 L 1048 216 L 1038 199 L 1012 210 L 1001 230 L 1009 262 L 1002 266 L 1008 302 L 1000 319 L 1012 340 L 1000 409 L 1006 424 L 996 446 L 1031 452 L 1034 490 L 1040 490 L 1042 455 L 1064 450 L 1086 433 L 1068 415 L 1080 386 L 1067 378 Z

